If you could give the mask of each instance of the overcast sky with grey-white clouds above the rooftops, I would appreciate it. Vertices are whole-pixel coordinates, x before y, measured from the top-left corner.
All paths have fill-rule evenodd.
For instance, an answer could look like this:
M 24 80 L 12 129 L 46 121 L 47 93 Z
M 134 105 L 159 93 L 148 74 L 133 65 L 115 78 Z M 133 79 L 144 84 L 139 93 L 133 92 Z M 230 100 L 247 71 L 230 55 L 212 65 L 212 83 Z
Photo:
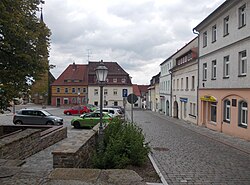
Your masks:
M 160 63 L 196 35 L 192 29 L 224 0 L 46 0 L 50 64 L 118 62 L 135 84 L 149 84 Z

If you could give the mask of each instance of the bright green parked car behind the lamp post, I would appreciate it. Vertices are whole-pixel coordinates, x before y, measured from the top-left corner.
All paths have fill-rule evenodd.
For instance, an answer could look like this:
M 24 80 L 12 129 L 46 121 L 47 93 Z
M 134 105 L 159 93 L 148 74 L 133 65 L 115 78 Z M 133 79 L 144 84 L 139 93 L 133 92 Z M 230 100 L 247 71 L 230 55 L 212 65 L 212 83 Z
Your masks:
M 102 115 L 103 123 L 108 123 L 112 120 L 112 116 L 103 113 Z M 73 118 L 71 120 L 71 125 L 75 128 L 80 127 L 94 127 L 100 122 L 100 112 L 91 112 L 87 114 L 82 114 L 80 117 Z

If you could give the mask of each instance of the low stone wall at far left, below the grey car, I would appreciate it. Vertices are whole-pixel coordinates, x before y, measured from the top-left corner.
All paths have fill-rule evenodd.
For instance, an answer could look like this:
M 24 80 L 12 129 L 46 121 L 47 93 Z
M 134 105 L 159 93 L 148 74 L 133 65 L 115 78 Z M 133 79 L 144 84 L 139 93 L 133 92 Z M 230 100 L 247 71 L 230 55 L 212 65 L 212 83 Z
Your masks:
M 49 129 L 48 129 L 49 130 Z M 67 137 L 66 127 L 46 130 L 25 129 L 0 139 L 0 159 L 25 159 Z

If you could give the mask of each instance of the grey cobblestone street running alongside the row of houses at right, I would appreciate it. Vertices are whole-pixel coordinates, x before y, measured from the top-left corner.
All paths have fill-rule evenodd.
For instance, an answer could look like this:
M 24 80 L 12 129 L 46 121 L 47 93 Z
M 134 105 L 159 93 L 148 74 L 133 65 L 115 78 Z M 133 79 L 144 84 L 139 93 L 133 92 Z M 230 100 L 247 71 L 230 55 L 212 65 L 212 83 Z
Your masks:
M 250 185 L 250 142 L 151 111 L 134 122 L 170 185 Z

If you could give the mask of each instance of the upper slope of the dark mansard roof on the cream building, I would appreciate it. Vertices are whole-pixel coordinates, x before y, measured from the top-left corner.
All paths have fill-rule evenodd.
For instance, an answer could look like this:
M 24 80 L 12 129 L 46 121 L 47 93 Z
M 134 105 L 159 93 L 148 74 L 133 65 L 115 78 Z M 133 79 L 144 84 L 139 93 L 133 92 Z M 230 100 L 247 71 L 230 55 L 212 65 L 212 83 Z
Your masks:
M 126 71 L 117 62 L 103 62 L 108 68 L 108 75 L 128 75 Z M 89 74 L 95 74 L 95 69 L 100 65 L 100 62 L 89 61 Z

